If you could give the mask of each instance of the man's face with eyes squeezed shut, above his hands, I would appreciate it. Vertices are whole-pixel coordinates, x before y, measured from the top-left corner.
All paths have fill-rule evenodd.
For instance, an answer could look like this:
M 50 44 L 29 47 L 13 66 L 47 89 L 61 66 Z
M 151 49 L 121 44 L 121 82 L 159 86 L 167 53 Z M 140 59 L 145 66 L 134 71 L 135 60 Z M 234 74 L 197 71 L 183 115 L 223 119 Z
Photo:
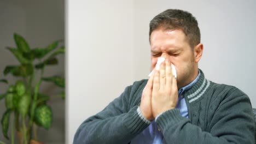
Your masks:
M 197 62 L 194 49 L 181 29 L 164 31 L 155 29 L 150 36 L 151 70 L 155 68 L 159 57 L 168 59 L 177 70 L 178 88 L 188 85 L 197 76 Z

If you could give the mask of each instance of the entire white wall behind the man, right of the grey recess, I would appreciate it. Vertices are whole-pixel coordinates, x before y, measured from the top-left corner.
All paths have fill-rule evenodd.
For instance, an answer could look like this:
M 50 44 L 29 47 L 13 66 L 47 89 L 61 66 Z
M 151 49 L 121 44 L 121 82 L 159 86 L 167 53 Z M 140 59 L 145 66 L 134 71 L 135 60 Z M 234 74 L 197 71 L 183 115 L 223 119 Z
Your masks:
M 255 5 L 252 0 L 68 1 L 66 142 L 72 143 L 78 126 L 125 86 L 147 78 L 149 21 L 168 8 L 197 18 L 205 46 L 199 67 L 207 79 L 242 89 L 256 107 Z

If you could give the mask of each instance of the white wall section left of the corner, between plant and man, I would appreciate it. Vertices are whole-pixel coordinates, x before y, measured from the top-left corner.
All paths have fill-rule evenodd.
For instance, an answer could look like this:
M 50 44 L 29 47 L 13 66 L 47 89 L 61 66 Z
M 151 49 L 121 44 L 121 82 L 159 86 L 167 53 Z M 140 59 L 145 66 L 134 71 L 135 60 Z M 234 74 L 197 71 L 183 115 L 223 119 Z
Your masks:
M 118 97 L 133 81 L 132 1 L 67 3 L 67 133 Z

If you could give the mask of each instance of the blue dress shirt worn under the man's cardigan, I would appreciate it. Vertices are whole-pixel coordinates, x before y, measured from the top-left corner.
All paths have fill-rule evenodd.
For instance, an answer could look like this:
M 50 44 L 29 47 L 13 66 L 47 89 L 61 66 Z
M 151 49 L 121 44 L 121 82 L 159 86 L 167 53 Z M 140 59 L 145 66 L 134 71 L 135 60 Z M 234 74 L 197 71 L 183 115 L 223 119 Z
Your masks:
M 190 89 L 195 83 L 199 80 L 201 73 L 197 75 L 196 79 L 193 82 L 190 82 L 187 86 L 184 86 L 179 89 L 178 91 L 178 104 L 176 109 L 179 109 L 179 113 L 181 116 L 188 118 L 188 107 L 186 101 L 183 97 L 183 92 Z M 155 121 L 150 123 L 148 128 L 144 129 L 140 134 L 134 137 L 131 141 L 131 144 L 143 144 L 143 143 L 154 143 L 154 144 L 165 144 L 164 136 L 162 135 L 161 131 L 158 130 Z

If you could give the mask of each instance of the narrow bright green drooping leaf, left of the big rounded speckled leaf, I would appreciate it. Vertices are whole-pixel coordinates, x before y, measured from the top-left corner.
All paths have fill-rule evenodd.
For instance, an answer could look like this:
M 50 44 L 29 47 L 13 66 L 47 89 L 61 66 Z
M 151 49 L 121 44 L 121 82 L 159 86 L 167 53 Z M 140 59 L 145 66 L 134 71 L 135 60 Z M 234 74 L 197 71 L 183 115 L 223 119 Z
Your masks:
M 21 114 L 22 118 L 25 118 L 29 107 L 30 107 L 31 98 L 30 95 L 24 94 L 18 103 L 18 112 Z

